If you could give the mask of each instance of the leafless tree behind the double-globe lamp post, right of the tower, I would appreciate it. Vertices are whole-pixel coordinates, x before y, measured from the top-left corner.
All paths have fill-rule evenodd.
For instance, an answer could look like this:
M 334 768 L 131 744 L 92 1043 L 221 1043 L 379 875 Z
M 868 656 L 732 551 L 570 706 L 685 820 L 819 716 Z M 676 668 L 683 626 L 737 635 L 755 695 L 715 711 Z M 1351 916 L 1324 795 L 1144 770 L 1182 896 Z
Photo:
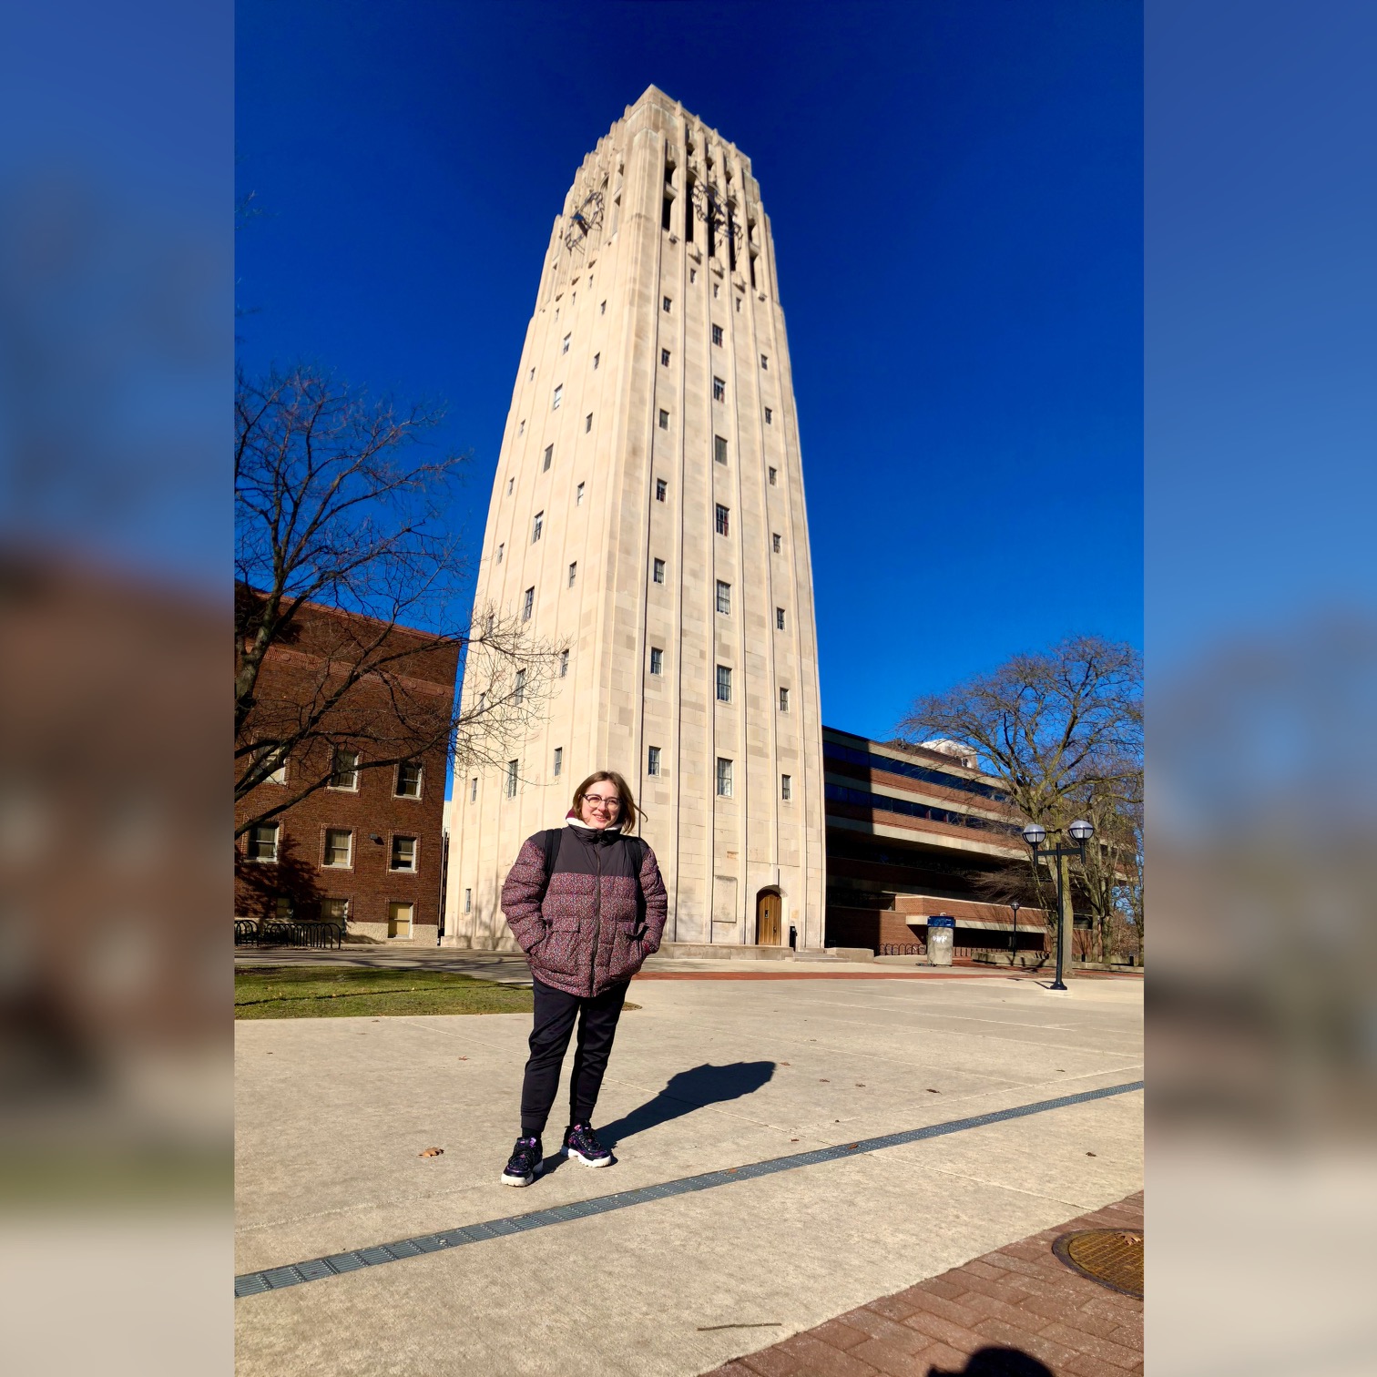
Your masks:
M 898 730 L 916 745 L 945 739 L 968 748 L 1002 782 L 1013 808 L 1049 832 L 1078 812 L 1095 814 L 1092 822 L 1100 817 L 1107 836 L 1093 862 L 1077 868 L 1074 883 L 1088 892 L 1093 863 L 1100 890 L 1110 895 L 1106 918 L 1122 902 L 1114 877 L 1128 850 L 1122 829 L 1108 821 L 1118 817 L 1117 807 L 1143 796 L 1143 666 L 1132 646 L 1073 636 L 1048 651 L 1013 655 L 989 675 L 918 698 Z M 1002 902 L 1036 896 L 1055 925 L 1049 880 L 1031 868 L 1031 856 L 1024 885 L 1011 874 L 989 885 L 1008 891 Z M 1092 905 L 1097 902 L 1092 896 Z

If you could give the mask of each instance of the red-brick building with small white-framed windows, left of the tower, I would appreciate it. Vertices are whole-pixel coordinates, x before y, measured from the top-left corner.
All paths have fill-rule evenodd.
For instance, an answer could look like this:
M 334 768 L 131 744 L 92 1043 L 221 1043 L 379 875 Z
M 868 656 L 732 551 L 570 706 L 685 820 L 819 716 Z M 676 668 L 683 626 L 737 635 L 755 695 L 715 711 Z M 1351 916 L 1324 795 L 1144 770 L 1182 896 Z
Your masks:
M 325 918 L 350 938 L 431 943 L 441 920 L 446 748 L 409 755 L 450 717 L 459 647 L 369 617 L 306 607 L 259 675 L 251 739 L 285 738 L 337 687 L 341 666 L 379 664 L 238 806 L 235 825 L 275 793 L 329 775 L 235 845 L 237 917 Z M 365 658 L 366 657 L 366 658 Z M 347 672 L 347 671 L 343 671 Z M 397 761 L 397 756 L 408 756 Z M 380 763 L 394 761 L 394 763 Z

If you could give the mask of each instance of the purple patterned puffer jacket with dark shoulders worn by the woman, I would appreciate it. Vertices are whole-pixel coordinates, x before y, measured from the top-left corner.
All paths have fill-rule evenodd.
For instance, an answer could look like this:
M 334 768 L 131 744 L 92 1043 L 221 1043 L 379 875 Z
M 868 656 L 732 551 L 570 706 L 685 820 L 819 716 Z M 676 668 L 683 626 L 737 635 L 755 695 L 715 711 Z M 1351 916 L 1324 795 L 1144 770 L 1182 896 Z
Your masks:
M 650 847 L 640 866 L 640 895 L 643 903 L 621 833 L 570 823 L 560 834 L 548 888 L 544 833 L 526 839 L 503 884 L 503 913 L 533 975 L 589 998 L 631 979 L 660 947 L 669 899 Z

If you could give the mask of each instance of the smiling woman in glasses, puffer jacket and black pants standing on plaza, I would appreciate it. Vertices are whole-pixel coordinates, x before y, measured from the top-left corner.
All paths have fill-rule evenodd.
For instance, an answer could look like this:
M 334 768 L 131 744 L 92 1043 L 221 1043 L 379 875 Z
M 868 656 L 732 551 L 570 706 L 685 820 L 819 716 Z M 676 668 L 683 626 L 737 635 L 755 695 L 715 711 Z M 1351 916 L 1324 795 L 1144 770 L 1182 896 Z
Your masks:
M 503 913 L 536 987 L 521 1137 L 503 1172 L 504 1186 L 530 1186 L 541 1172 L 540 1136 L 576 1020 L 563 1148 L 587 1166 L 611 1164 L 592 1129 L 593 1106 L 627 986 L 658 949 L 665 928 L 665 884 L 655 854 L 631 836 L 636 804 L 627 781 L 610 770 L 591 774 L 574 790 L 566 822 L 529 837 L 503 884 Z

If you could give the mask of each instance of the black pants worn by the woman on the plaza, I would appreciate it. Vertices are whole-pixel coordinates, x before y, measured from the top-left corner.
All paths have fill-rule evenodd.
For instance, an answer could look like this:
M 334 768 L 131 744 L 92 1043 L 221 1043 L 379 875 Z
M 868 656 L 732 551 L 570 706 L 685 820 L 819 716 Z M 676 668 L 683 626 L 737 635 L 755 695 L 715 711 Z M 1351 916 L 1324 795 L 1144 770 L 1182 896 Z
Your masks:
M 576 1019 L 578 1045 L 569 1077 L 569 1122 L 587 1124 L 593 1117 L 629 983 L 621 980 L 603 994 L 581 1000 L 577 994 L 565 994 L 536 980 L 536 1027 L 530 1034 L 530 1058 L 521 1088 L 522 1137 L 540 1137 L 545 1131 L 545 1120 L 559 1093 L 559 1069 L 565 1064 Z

